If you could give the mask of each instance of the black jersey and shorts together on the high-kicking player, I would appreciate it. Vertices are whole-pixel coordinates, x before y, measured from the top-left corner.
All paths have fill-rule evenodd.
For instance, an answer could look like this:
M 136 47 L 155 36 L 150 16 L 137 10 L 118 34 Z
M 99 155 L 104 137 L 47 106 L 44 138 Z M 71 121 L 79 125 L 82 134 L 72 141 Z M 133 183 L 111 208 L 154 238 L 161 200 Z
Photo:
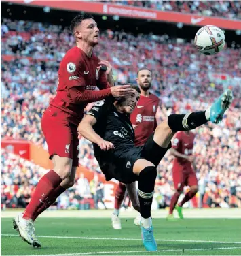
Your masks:
M 138 180 L 133 173 L 136 160 L 142 158 L 156 166 L 168 148 L 161 148 L 153 140 L 153 134 L 143 146 L 134 146 L 134 129 L 130 116 L 117 111 L 113 99 L 98 101 L 88 112 L 97 120 L 94 131 L 104 140 L 112 142 L 115 149 L 104 151 L 94 144 L 94 156 L 105 174 L 106 180 L 116 178 L 125 184 Z

